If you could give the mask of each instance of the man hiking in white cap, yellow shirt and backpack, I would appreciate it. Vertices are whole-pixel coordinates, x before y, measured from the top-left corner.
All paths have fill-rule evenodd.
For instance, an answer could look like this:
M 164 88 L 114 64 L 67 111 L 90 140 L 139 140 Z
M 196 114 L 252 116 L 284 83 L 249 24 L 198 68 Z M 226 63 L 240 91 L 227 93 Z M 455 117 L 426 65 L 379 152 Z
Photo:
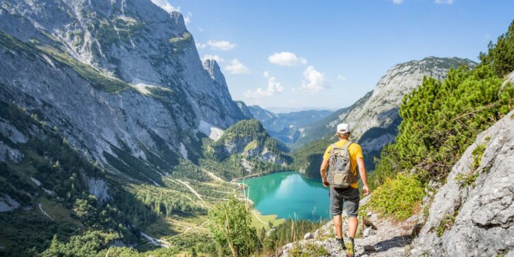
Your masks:
M 354 237 L 357 231 L 358 192 L 357 165 L 360 179 L 363 180 L 363 195 L 369 195 L 367 186 L 367 173 L 364 166 L 363 150 L 360 145 L 350 142 L 350 125 L 341 123 L 337 125 L 336 136 L 339 141 L 329 145 L 323 155 L 321 163 L 321 179 L 323 186 L 330 186 L 330 214 L 334 215 L 336 240 L 348 257 L 354 257 Z M 330 165 L 329 165 L 330 164 Z M 328 174 L 326 172 L 328 166 Z M 345 205 L 348 215 L 348 238 L 343 240 L 343 222 L 341 212 Z

